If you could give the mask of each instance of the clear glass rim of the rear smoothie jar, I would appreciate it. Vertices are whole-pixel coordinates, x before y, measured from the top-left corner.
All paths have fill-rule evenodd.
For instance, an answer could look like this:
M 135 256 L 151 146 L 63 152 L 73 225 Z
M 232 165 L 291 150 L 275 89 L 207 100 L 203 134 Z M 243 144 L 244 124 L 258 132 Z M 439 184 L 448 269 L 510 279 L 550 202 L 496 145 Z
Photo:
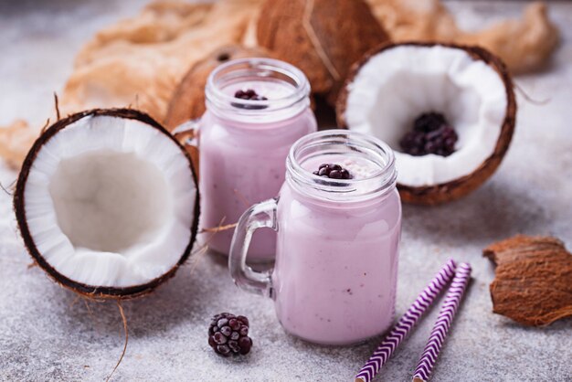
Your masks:
M 242 100 L 223 91 L 225 85 L 243 78 L 276 80 L 291 85 L 293 91 L 270 100 Z M 231 114 L 233 117 L 253 117 L 275 114 L 288 118 L 310 101 L 310 82 L 302 70 L 274 58 L 237 58 L 229 60 L 214 69 L 207 78 L 205 97 L 207 105 L 217 114 Z M 300 106 L 298 108 L 297 106 Z M 300 109 L 300 110 L 299 110 Z

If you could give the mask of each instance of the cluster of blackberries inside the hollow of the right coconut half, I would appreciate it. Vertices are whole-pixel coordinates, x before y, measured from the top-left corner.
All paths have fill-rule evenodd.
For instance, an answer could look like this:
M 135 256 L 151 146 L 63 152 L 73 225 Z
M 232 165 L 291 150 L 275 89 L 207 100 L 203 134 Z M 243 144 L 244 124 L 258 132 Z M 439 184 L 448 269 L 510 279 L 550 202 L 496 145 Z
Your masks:
M 413 131 L 405 134 L 399 145 L 410 155 L 437 154 L 449 156 L 455 152 L 459 137 L 445 116 L 439 112 L 426 112 L 413 122 Z

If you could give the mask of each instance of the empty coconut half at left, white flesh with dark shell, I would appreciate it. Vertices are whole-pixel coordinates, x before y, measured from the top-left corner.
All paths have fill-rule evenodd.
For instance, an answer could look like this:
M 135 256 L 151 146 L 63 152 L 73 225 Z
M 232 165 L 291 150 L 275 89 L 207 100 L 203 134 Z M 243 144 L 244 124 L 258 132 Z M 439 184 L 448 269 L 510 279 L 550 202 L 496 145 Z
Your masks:
M 31 256 L 61 285 L 129 298 L 175 274 L 196 239 L 198 189 L 185 149 L 130 109 L 84 111 L 40 135 L 14 197 Z

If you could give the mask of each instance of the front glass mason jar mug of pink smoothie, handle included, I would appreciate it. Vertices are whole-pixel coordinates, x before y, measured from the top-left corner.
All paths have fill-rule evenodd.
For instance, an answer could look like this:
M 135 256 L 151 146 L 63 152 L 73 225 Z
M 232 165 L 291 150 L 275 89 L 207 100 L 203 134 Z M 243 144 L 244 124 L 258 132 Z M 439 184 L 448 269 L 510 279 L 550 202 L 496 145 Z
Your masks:
M 314 175 L 340 164 L 353 176 Z M 385 332 L 395 313 L 401 202 L 386 143 L 349 131 L 302 137 L 291 147 L 280 196 L 240 218 L 228 266 L 237 285 L 270 296 L 284 329 L 323 345 Z M 267 272 L 245 263 L 252 233 L 278 232 Z

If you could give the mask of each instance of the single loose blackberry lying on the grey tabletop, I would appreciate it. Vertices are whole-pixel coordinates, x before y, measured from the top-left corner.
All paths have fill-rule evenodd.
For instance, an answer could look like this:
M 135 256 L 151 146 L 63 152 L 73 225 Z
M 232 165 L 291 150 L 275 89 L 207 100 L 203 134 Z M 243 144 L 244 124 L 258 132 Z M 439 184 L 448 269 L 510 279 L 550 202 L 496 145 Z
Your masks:
M 220 313 L 208 326 L 208 345 L 219 355 L 246 355 L 252 347 L 249 319 L 243 315 Z

